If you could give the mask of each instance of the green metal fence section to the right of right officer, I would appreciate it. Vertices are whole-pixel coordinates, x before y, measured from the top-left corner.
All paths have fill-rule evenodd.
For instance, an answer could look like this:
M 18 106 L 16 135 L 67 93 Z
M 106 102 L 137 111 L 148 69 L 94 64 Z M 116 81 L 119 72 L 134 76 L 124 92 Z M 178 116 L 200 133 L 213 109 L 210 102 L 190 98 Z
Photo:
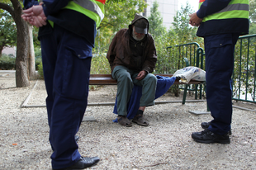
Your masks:
M 256 103 L 256 35 L 240 36 L 235 46 L 233 99 Z

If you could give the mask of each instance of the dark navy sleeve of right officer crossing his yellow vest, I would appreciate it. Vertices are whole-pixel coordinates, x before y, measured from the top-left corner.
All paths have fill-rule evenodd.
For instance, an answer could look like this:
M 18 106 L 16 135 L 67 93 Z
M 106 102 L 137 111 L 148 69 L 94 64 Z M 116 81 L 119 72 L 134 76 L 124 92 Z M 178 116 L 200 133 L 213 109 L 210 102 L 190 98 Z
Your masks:
M 206 0 L 197 11 L 197 17 L 204 18 L 228 6 L 231 0 Z

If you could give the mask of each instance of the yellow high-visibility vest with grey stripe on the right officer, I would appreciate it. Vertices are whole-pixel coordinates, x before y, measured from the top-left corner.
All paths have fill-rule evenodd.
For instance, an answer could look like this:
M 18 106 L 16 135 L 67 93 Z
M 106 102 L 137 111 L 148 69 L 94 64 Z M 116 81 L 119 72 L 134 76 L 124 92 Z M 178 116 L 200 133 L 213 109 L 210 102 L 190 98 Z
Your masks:
M 199 8 L 205 0 L 199 1 Z M 231 18 L 249 18 L 249 0 L 232 0 L 220 12 L 213 13 L 203 18 L 203 22 Z

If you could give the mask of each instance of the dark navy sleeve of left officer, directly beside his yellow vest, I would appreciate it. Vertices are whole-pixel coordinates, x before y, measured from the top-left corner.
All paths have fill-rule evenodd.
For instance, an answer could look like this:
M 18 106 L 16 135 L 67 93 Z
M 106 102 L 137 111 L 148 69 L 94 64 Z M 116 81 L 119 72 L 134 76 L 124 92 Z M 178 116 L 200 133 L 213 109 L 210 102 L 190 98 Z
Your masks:
M 63 7 L 66 7 L 71 0 L 43 0 L 45 16 L 59 12 Z

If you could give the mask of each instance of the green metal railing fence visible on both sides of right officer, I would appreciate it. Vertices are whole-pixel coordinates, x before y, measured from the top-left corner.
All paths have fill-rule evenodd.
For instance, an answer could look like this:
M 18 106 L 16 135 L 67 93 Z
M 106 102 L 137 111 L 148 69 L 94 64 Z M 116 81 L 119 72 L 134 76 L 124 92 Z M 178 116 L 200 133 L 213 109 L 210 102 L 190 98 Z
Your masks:
M 184 58 L 189 60 L 191 66 L 205 69 L 204 50 L 196 43 L 175 45 L 167 47 L 168 57 L 166 57 L 164 67 L 156 68 L 159 73 L 174 73 L 180 68 L 186 67 Z M 235 63 L 233 79 L 233 100 L 256 103 L 256 35 L 240 36 L 235 46 Z M 184 86 L 180 85 L 180 88 Z M 199 92 L 199 98 L 204 95 L 203 85 L 190 85 L 189 91 Z

